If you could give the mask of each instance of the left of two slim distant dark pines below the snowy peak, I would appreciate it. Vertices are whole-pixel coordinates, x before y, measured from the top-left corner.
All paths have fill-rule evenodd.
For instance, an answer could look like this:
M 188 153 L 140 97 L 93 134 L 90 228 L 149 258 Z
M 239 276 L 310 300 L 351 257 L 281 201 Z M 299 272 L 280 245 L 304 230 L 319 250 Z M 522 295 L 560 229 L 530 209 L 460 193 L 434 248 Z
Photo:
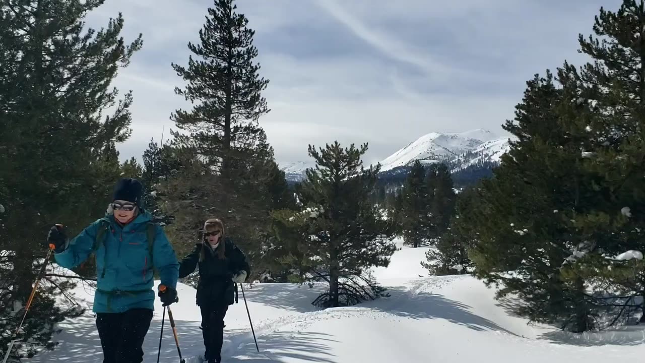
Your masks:
M 401 190 L 402 205 L 399 213 L 405 244 L 419 247 L 428 242 L 427 222 L 430 216 L 430 194 L 425 182 L 426 169 L 416 160 Z

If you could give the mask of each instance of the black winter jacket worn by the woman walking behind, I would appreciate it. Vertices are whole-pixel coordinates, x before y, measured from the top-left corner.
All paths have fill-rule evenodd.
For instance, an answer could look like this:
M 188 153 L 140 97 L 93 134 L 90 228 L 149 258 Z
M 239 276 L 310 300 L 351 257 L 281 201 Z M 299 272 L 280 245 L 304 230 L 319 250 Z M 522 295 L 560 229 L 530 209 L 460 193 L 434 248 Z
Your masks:
M 199 265 L 199 282 L 197 282 L 197 305 L 213 306 L 235 302 L 235 289 L 233 276 L 240 271 L 246 271 L 246 276 L 251 275 L 251 269 L 246 262 L 244 253 L 228 238 L 224 238 L 224 260 L 217 257 L 217 252 L 206 251 L 206 258 L 199 262 L 199 253 L 202 248 L 209 247 L 195 244 L 193 251 L 181 260 L 179 278 L 186 277 L 195 271 Z

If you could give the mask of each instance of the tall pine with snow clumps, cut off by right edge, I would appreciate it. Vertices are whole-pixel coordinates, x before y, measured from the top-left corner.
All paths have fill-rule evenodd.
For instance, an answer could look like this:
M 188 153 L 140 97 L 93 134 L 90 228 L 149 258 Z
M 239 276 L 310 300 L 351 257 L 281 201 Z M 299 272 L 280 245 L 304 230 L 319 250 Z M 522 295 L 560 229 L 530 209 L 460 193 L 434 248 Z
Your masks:
M 592 62 L 580 69 L 565 63 L 558 72 L 568 97 L 577 99 L 577 107 L 570 107 L 575 122 L 567 131 L 581 140 L 581 165 L 593 191 L 585 196 L 592 206 L 572 217 L 590 248 L 568 265 L 568 272 L 624 296 L 605 300 L 608 306 L 622 305 L 622 312 L 645 304 L 645 264 L 640 261 L 645 251 L 644 31 L 644 1 L 624 0 L 616 12 L 600 8 L 595 36 L 579 36 L 580 52 Z M 623 256 L 635 260 L 614 259 L 628 251 L 636 253 Z M 645 307 L 640 310 L 640 322 L 645 322 Z

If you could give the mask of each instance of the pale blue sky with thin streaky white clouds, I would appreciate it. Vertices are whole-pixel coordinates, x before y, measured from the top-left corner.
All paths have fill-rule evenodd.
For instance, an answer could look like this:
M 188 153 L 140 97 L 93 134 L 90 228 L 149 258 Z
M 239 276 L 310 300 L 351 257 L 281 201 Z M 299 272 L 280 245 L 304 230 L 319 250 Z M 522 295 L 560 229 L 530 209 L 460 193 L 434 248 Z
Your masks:
M 565 60 L 582 65 L 578 36 L 600 6 L 620 0 L 237 0 L 255 30 L 271 111 L 259 120 L 279 163 L 312 161 L 308 145 L 368 143 L 387 158 L 429 132 L 486 129 L 503 137 L 526 81 Z M 88 26 L 123 13 L 123 36 L 143 48 L 114 81 L 132 90 L 132 136 L 122 160 L 176 130 L 191 105 L 171 63 L 186 66 L 213 0 L 106 0 Z

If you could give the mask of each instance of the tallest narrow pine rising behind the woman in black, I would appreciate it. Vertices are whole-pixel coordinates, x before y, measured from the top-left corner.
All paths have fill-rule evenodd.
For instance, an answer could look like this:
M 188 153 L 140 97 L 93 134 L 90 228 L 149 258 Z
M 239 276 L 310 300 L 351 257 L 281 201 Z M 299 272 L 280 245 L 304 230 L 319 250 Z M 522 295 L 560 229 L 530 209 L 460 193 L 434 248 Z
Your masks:
M 175 125 L 188 132 L 173 132 L 174 138 L 209 171 L 197 166 L 197 180 L 175 181 L 166 190 L 177 193 L 167 194 L 167 200 L 175 205 L 169 212 L 175 216 L 174 223 L 187 223 L 178 225 L 178 231 L 190 228 L 190 234 L 197 233 L 192 228 L 199 220 L 189 218 L 221 218 L 228 235 L 235 237 L 252 260 L 253 270 L 259 271 L 273 202 L 268 191 L 274 175 L 273 149 L 258 122 L 269 112 L 261 96 L 268 80 L 260 78 L 260 66 L 254 63 L 255 32 L 248 27 L 248 19 L 235 12 L 233 3 L 215 0 L 199 31 L 200 43 L 188 43 L 192 52 L 188 66 L 172 65 L 187 83 L 175 92 L 195 104 L 190 112 L 177 110 L 172 115 Z M 196 202 L 192 199 L 195 195 L 207 197 Z M 201 212 L 195 215 L 179 205 L 196 205 Z

